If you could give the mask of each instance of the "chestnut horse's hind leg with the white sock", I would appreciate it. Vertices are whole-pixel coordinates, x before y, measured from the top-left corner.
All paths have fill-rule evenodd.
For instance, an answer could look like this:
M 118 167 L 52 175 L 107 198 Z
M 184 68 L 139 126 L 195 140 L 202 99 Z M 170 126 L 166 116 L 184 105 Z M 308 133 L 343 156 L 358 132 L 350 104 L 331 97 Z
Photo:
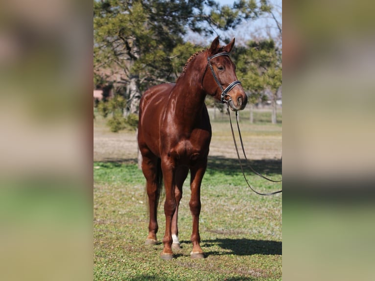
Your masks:
M 172 249 L 180 249 L 180 241 L 178 240 L 178 207 L 182 198 L 182 186 L 186 177 L 188 176 L 188 166 L 181 166 L 176 171 L 176 185 L 174 189 L 174 196 L 176 198 L 176 211 L 172 217 Z

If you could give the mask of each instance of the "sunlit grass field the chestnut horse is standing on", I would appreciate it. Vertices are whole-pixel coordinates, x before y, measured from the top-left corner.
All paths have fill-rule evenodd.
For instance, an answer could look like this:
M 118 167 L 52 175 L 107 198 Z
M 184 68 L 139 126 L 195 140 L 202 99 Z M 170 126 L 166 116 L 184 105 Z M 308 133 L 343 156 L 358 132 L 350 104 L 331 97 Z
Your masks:
M 136 148 L 134 132 L 110 133 L 102 119 L 95 119 L 94 280 L 281 280 L 282 195 L 258 196 L 245 187 L 228 122 L 211 123 L 210 160 L 201 191 L 200 234 L 205 258 L 190 258 L 188 178 L 179 211 L 182 249 L 174 252 L 173 260 L 165 261 L 160 258 L 162 243 L 144 245 L 147 199 L 145 181 L 135 163 L 137 152 L 131 151 Z M 281 122 L 250 125 L 242 119 L 241 128 L 253 166 L 281 178 Z M 127 140 L 125 146 L 121 139 Z M 261 192 L 281 188 L 250 173 L 247 178 Z M 162 240 L 163 207 L 158 222 L 158 239 Z

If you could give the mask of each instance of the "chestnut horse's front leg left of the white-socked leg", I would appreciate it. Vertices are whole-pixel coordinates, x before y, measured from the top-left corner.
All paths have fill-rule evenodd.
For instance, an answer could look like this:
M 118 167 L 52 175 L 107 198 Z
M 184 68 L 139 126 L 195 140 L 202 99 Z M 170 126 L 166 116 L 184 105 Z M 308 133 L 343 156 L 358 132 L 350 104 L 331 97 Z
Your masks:
M 164 176 L 164 187 L 165 187 L 165 203 L 164 203 L 164 214 L 165 214 L 165 234 L 163 238 L 164 249 L 161 255 L 163 259 L 172 259 L 172 217 L 176 211 L 176 198 L 175 198 L 175 167 L 170 157 L 165 157 L 162 160 L 162 170 Z

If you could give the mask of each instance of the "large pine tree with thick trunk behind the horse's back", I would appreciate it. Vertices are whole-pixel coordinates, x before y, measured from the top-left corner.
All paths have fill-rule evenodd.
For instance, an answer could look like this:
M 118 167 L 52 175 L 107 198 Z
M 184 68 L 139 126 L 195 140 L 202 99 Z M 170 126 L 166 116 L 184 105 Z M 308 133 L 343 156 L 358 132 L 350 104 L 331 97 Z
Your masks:
M 195 51 L 183 41 L 188 29 L 212 34 L 269 10 L 265 0 L 232 7 L 213 0 L 95 0 L 94 83 L 112 83 L 126 99 L 125 116 L 137 113 L 141 92 L 173 82 Z

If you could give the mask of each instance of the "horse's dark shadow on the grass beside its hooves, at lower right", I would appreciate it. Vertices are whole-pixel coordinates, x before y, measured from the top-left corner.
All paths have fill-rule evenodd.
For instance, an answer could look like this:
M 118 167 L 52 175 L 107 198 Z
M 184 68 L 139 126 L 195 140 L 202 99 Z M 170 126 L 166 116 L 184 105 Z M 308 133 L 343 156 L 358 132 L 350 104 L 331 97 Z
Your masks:
M 268 240 L 254 240 L 254 239 L 230 239 L 218 238 L 215 240 L 203 240 L 202 246 L 211 247 L 217 245 L 225 252 L 211 251 L 205 252 L 206 256 L 222 256 L 222 255 L 236 255 L 236 256 L 251 256 L 251 255 L 282 255 L 282 242 L 268 241 Z

